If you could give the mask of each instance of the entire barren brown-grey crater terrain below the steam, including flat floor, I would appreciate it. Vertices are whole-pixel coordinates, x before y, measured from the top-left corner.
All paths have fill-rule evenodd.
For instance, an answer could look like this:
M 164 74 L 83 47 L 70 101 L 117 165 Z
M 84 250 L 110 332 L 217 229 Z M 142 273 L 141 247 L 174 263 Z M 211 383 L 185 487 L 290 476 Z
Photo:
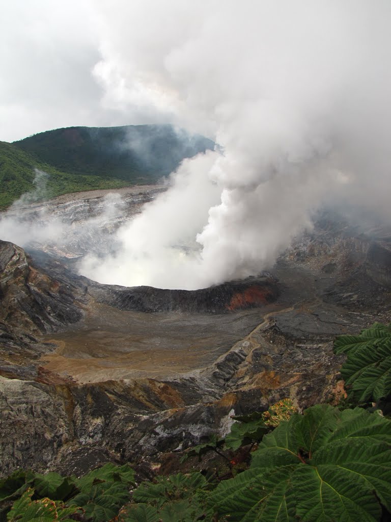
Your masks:
M 233 414 L 337 402 L 332 340 L 390 321 L 387 234 L 323 215 L 273 276 L 195 293 L 102 285 L 55 249 L 0 243 L 1 473 L 164 460 Z

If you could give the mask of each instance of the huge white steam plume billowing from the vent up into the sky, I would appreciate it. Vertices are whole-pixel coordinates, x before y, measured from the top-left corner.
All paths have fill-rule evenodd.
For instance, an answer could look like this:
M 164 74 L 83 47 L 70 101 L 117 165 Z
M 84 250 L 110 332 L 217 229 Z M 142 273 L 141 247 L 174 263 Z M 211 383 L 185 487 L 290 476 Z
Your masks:
M 322 204 L 389 218 L 390 15 L 382 0 L 103 4 L 106 106 L 142 100 L 221 152 L 185 161 L 81 273 L 206 287 L 270 267 Z

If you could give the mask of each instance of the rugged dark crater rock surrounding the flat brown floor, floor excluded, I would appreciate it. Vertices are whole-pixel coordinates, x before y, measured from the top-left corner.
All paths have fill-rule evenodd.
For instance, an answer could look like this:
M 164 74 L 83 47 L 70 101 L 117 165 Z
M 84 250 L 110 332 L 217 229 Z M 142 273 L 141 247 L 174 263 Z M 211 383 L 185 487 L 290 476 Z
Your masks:
M 0 243 L 0 473 L 20 466 L 79 473 L 107 460 L 158 460 L 161 452 L 225 435 L 233 414 L 263 411 L 285 397 L 298 408 L 336 404 L 344 394 L 343 356 L 334 355 L 333 338 L 391 318 L 390 292 L 382 287 L 388 247 L 369 245 L 368 238 L 327 221 L 280 258 L 278 285 L 265 277 L 178 291 L 94 283 L 53 258 L 29 258 Z M 113 307 L 167 312 L 162 323 L 156 318 L 156 337 L 164 322 L 171 328 L 173 312 L 196 312 L 197 325 L 205 324 L 201 312 L 252 306 L 261 312 L 251 312 L 254 325 L 214 352 L 212 363 L 180 376 L 79 384 L 40 366 L 40 354 L 53 348 L 40 332 L 65 328 L 93 305 L 107 321 Z M 110 317 L 118 317 L 114 311 Z M 217 315 L 207 317 L 217 323 Z M 234 315 L 224 318 L 233 322 Z M 130 322 L 125 334 L 132 328 Z M 99 357 L 106 357 L 103 350 Z

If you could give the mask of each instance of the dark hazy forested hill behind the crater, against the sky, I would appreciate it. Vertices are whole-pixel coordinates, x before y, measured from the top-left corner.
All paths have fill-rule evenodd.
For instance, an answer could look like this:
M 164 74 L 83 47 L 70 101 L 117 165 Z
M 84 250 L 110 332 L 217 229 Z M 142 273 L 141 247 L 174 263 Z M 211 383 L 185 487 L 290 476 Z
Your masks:
M 13 145 L 64 172 L 131 183 L 157 180 L 175 170 L 182 159 L 214 147 L 213 141 L 172 125 L 60 128 Z

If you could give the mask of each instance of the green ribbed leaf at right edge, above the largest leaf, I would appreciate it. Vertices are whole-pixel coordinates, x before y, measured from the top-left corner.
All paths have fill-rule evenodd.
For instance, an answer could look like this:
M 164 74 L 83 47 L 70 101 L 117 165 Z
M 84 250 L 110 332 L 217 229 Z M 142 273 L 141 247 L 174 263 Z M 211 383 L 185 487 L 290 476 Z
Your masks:
M 355 404 L 375 402 L 384 409 L 391 398 L 391 327 L 374 323 L 359 335 L 341 335 L 335 353 L 345 353 L 341 368 L 348 398 Z

